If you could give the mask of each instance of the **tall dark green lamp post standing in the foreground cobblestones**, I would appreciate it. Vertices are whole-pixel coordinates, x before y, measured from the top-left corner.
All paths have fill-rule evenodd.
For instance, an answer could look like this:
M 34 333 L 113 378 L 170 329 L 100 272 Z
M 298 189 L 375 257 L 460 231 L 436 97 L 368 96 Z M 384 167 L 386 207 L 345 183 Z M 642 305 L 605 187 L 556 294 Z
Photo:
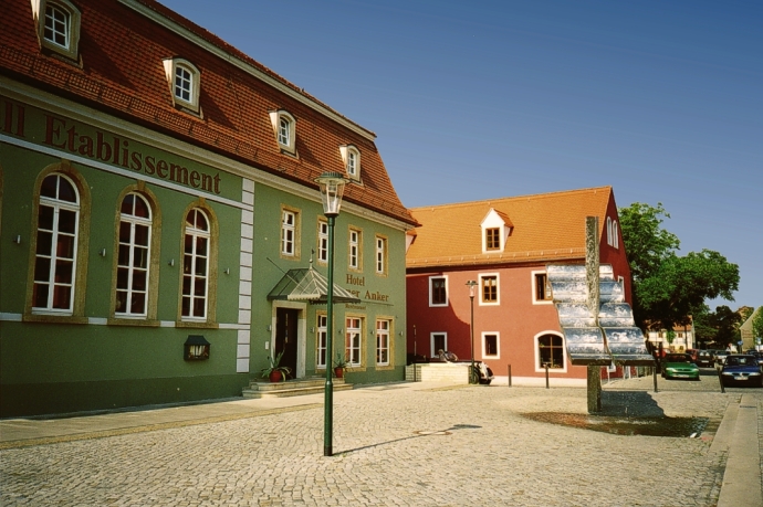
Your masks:
M 339 214 L 342 193 L 347 182 L 338 172 L 324 172 L 315 182 L 321 188 L 323 214 L 328 220 L 328 287 L 326 288 L 326 384 L 323 401 L 323 455 L 333 455 L 332 432 L 334 424 L 334 382 L 332 358 L 334 357 L 334 219 Z

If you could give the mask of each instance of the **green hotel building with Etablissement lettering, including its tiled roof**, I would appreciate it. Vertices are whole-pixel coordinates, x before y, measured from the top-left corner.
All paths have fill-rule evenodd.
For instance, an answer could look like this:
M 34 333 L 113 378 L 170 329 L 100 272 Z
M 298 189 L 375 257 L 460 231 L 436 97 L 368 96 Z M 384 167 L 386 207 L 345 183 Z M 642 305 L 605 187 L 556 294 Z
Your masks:
M 3 11 L 0 416 L 239 397 L 275 355 L 324 376 L 326 171 L 334 356 L 403 380 L 416 221 L 372 131 L 151 0 Z

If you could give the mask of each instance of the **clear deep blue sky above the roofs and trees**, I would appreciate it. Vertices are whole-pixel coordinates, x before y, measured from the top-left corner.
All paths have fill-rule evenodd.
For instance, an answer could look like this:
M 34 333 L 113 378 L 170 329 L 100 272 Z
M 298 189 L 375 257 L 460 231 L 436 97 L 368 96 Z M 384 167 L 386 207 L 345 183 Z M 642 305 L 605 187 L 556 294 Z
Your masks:
M 375 131 L 405 205 L 608 184 L 763 305 L 762 1 L 163 3 Z

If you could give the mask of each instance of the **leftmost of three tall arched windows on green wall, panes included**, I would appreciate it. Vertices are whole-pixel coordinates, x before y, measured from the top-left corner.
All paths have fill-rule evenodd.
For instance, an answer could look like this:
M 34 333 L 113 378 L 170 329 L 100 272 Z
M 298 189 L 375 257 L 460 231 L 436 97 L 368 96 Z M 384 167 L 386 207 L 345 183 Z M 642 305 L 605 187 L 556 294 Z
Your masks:
M 77 263 L 80 194 L 65 176 L 42 181 L 34 261 L 34 311 L 72 315 Z

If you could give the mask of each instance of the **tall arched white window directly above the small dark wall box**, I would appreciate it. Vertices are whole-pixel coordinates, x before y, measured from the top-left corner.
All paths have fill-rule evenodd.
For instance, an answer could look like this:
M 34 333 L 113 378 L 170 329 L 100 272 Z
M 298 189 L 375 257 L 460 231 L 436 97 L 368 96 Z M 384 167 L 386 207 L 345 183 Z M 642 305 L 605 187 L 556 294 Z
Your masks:
M 207 214 L 190 210 L 182 252 L 182 317 L 189 320 L 207 319 L 210 240 Z

